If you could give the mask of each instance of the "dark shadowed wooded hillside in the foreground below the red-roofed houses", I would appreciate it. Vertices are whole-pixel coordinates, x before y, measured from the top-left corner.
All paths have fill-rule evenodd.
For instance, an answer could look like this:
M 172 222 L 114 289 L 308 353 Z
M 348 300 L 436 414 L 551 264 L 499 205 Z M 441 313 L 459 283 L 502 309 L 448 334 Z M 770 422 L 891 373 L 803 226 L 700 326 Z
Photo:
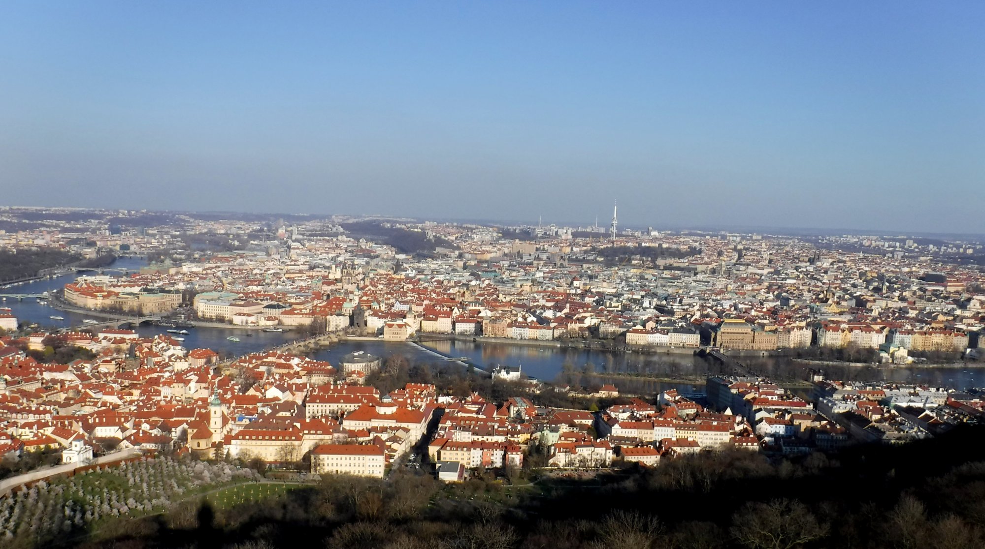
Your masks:
M 982 428 L 902 447 L 767 458 L 748 451 L 666 460 L 590 480 L 480 477 L 442 484 L 325 475 L 275 499 L 182 505 L 119 520 L 83 547 L 977 548 L 985 539 Z M 550 469 L 546 469 L 550 470 Z M 515 480 L 515 479 L 514 479 Z M 204 544 L 204 545 L 203 545 Z

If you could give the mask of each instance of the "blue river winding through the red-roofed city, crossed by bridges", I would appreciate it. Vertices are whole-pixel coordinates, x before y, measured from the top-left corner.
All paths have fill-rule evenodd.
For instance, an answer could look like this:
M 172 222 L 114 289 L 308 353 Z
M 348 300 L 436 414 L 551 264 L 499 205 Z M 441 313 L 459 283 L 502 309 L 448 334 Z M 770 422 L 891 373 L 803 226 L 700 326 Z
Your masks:
M 140 269 L 147 265 L 141 259 L 121 258 L 112 266 L 126 269 Z M 35 280 L 15 286 L 0 289 L 0 292 L 10 293 L 42 293 L 60 289 L 75 278 L 67 274 L 52 279 Z M 23 301 L 8 298 L 0 302 L 0 307 L 10 308 L 19 321 L 30 321 L 43 328 L 63 329 L 72 326 L 82 326 L 86 315 L 67 311 L 58 311 L 48 305 L 42 305 L 34 298 Z M 58 321 L 50 316 L 64 317 Z M 99 317 L 92 317 L 99 320 Z M 141 336 L 163 334 L 165 327 L 141 326 L 137 332 Z M 219 353 L 232 355 L 260 351 L 280 345 L 296 338 L 291 332 L 269 333 L 242 329 L 224 328 L 187 328 L 189 332 L 184 337 L 182 345 L 186 348 L 205 347 Z M 230 341 L 228 336 L 236 336 L 239 341 Z M 382 340 L 343 341 L 332 348 L 316 351 L 312 356 L 318 360 L 327 360 L 337 364 L 346 353 L 362 350 L 382 356 L 402 354 L 413 362 L 434 363 L 443 361 L 436 354 L 451 357 L 467 357 L 470 362 L 486 370 L 492 370 L 497 365 L 520 366 L 523 373 L 542 380 L 554 380 L 564 370 L 584 371 L 586 368 L 597 373 L 639 373 L 659 375 L 663 377 L 693 377 L 717 373 L 714 364 L 708 364 L 704 359 L 688 354 L 643 354 L 631 352 L 610 352 L 595 349 L 558 348 L 553 346 L 520 345 L 511 343 L 475 342 L 475 341 L 427 341 L 422 345 L 402 342 L 384 342 Z M 743 362 L 743 358 L 739 358 Z M 792 366 L 781 359 L 755 359 L 766 369 L 765 373 L 776 378 L 804 379 L 806 366 Z M 912 368 L 912 367 L 874 367 L 874 366 L 822 366 L 831 379 L 851 379 L 868 381 L 894 381 L 901 383 L 921 383 L 940 387 L 964 390 L 971 387 L 985 387 L 985 369 L 965 368 L 963 366 L 948 368 Z M 690 391 L 693 386 L 668 385 Z

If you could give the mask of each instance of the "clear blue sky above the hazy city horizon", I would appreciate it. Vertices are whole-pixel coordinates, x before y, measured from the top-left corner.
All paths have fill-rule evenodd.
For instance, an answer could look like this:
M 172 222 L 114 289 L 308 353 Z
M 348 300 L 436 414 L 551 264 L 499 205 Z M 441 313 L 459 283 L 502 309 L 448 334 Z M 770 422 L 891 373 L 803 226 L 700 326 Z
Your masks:
M 0 202 L 985 233 L 982 2 L 0 3 Z

